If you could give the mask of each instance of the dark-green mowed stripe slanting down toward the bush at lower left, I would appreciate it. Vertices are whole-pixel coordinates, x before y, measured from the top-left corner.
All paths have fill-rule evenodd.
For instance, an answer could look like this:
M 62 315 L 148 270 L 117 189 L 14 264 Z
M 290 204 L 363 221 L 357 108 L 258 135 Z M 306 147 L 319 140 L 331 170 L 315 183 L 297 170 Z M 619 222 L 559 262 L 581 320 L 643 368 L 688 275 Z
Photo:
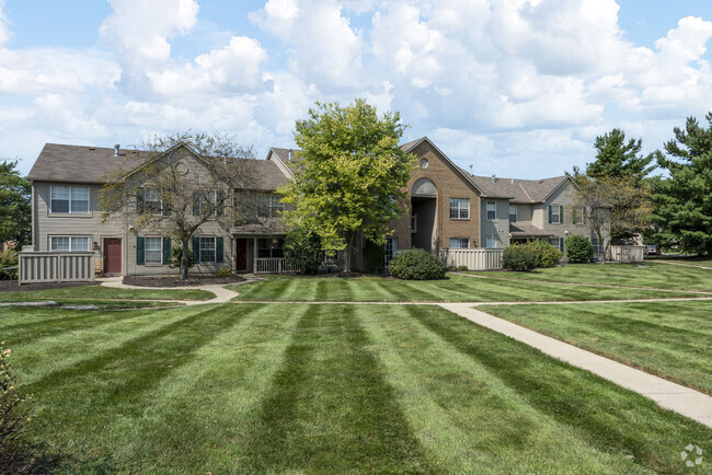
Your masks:
M 23 386 L 28 393 L 43 394 L 35 430 L 54 430 L 57 442 L 65 437 L 62 432 L 71 435 L 76 449 L 92 440 L 91 430 L 81 433 L 77 427 L 103 427 L 115 414 L 140 414 L 152 403 L 147 397 L 152 387 L 244 316 L 236 310 L 229 304 L 209 306 Z M 53 419 L 62 421 L 60 428 Z

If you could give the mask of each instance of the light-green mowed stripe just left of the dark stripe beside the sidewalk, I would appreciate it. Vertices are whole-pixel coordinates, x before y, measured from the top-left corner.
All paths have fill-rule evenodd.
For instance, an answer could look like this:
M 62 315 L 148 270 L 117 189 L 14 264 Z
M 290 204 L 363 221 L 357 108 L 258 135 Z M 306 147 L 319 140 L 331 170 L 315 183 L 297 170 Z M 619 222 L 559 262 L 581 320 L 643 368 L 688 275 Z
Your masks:
M 642 472 L 528 405 L 486 367 L 433 333 L 413 314 L 435 306 L 372 310 L 363 324 L 404 414 L 438 468 L 462 473 Z M 496 422 L 494 422 L 496 421 Z

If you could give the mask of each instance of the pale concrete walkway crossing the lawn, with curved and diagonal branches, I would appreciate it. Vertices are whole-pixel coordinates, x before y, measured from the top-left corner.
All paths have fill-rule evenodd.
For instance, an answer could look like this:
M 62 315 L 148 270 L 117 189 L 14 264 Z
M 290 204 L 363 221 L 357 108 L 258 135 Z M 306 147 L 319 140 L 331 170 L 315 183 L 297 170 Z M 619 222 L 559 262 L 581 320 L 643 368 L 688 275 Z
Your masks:
M 473 276 L 472 277 L 479 277 Z M 486 277 L 484 277 L 486 278 Z M 257 280 L 256 277 L 249 277 L 240 283 L 248 283 Z M 110 278 L 101 281 L 102 286 L 114 287 L 119 289 L 146 289 L 146 287 L 127 286 L 120 279 Z M 151 289 L 175 289 L 175 287 L 152 287 Z M 712 297 L 698 298 L 674 298 L 674 299 L 632 299 L 632 300 L 598 300 L 598 301 L 569 301 L 569 302 L 305 302 L 305 301 L 249 301 L 232 300 L 239 293 L 226 289 L 220 285 L 209 286 L 191 286 L 182 289 L 200 289 L 215 293 L 215 298 L 204 301 L 186 300 L 160 300 L 160 302 L 182 302 L 186 305 L 203 305 L 209 303 L 265 303 L 265 304 L 351 304 L 351 305 L 438 305 L 456 315 L 467 318 L 480 326 L 484 326 L 494 332 L 506 335 L 517 341 L 537 348 L 541 352 L 549 355 L 559 360 L 565 361 L 577 368 L 590 371 L 606 380 L 609 380 L 622 387 L 641 394 L 658 406 L 674 410 L 682 416 L 689 417 L 712 428 L 712 396 L 654 376 L 644 371 L 636 370 L 618 361 L 598 356 L 594 352 L 581 349 L 574 345 L 560 341 L 555 338 L 533 332 L 529 328 L 516 325 L 506 320 L 490 315 L 489 313 L 478 310 L 476 306 L 483 305 L 561 305 L 561 304 L 586 304 L 586 303 L 627 303 L 627 302 L 669 302 L 669 301 L 693 301 L 693 300 L 712 300 Z M 700 292 L 704 293 L 704 292 Z M 708 292 L 709 293 L 709 292 Z M 153 300 L 156 302 L 156 300 Z

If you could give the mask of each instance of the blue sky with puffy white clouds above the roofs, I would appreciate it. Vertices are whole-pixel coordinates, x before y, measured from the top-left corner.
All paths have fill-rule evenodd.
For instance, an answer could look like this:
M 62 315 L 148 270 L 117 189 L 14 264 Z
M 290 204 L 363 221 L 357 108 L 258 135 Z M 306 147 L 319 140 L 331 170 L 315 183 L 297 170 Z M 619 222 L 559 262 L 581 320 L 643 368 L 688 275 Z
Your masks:
M 474 174 L 556 176 L 712 111 L 707 0 L 0 0 L 0 158 L 234 134 L 364 97 Z

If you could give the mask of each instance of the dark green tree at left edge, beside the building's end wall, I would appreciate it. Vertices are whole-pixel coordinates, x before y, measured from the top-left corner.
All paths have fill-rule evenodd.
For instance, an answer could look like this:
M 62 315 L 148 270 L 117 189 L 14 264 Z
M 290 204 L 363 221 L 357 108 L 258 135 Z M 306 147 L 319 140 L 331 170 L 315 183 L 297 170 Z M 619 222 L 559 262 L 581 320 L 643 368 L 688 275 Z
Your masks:
M 21 248 L 31 242 L 32 185 L 16 166 L 0 163 L 0 242 L 13 241 Z

